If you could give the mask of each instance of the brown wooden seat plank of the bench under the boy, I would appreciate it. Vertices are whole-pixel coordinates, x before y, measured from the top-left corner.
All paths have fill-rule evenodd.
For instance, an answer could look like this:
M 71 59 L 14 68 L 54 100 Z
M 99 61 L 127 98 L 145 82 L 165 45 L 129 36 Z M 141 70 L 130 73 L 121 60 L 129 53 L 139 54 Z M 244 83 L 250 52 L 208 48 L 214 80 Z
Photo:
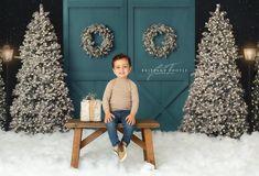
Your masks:
M 93 129 L 99 129 L 99 128 L 106 128 L 105 122 L 88 122 L 88 121 L 80 121 L 79 119 L 71 119 L 65 124 L 65 127 L 74 129 L 74 128 L 93 128 Z M 159 122 L 155 120 L 139 120 L 134 124 L 136 128 L 150 128 L 150 129 L 157 129 L 160 127 Z M 119 123 L 118 128 L 122 128 L 122 124 Z

